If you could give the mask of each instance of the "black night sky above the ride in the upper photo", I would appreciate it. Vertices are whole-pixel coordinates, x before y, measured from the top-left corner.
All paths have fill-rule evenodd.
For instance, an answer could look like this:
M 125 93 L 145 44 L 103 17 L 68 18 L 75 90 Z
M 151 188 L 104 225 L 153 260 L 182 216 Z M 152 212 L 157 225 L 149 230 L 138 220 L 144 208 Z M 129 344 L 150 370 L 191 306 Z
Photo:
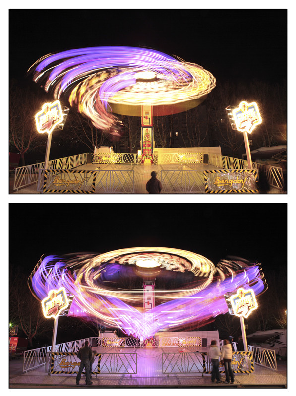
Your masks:
M 10 78 L 25 78 L 28 68 L 48 53 L 112 45 L 177 55 L 201 65 L 221 82 L 258 79 L 282 83 L 287 75 L 287 10 L 9 11 Z

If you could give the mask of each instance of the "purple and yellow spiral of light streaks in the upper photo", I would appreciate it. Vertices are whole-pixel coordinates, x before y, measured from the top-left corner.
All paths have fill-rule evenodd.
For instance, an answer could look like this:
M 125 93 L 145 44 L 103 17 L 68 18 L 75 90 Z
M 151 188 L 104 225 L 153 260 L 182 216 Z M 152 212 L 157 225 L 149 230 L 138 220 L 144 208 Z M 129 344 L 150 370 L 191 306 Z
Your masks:
M 108 112 L 110 103 L 172 105 L 201 98 L 216 85 L 213 75 L 197 64 L 153 49 L 124 46 L 48 54 L 28 71 L 35 82 L 46 80 L 45 91 L 56 99 L 68 96 L 71 106 L 103 130 L 118 125 L 118 118 Z M 137 81 L 143 71 L 154 73 L 156 81 Z

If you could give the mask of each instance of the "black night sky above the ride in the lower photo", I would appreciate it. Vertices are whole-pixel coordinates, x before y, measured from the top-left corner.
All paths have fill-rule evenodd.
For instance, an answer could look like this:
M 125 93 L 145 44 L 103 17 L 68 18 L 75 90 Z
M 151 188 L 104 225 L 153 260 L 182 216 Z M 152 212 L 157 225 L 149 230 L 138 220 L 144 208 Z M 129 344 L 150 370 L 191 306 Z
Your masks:
M 214 264 L 227 255 L 257 260 L 266 275 L 287 266 L 286 204 L 13 203 L 9 221 L 9 262 L 28 275 L 43 254 L 149 246 Z

